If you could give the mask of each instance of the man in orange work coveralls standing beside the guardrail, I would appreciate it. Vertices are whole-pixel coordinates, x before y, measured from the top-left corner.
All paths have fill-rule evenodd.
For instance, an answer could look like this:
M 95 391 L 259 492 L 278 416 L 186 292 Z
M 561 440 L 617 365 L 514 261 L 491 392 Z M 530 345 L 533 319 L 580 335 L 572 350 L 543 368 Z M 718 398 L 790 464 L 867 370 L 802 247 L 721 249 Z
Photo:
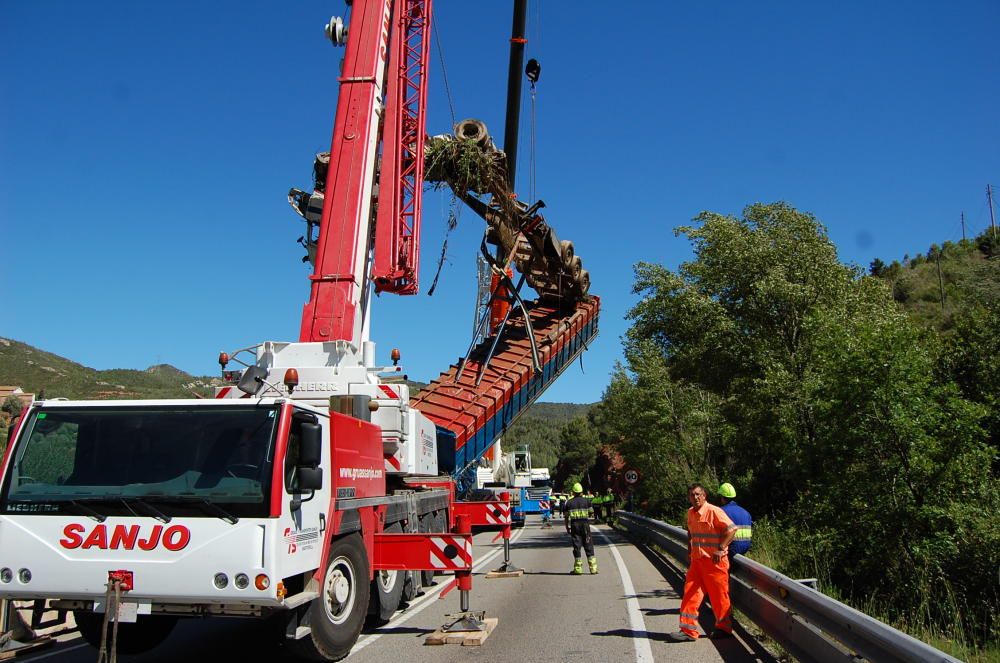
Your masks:
M 707 502 L 705 487 L 688 486 L 688 564 L 681 599 L 681 630 L 667 634 L 671 642 L 694 642 L 698 639 L 698 610 L 708 594 L 715 613 L 712 639 L 733 637 L 732 604 L 729 602 L 729 544 L 736 536 L 736 525 L 726 512 Z

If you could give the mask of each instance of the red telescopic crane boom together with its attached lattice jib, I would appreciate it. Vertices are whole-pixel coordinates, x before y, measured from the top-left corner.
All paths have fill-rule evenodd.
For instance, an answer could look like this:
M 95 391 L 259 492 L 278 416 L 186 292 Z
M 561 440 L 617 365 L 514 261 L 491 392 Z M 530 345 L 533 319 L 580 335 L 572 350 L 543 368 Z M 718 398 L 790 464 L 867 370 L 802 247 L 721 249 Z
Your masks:
M 340 94 L 315 270 L 310 277 L 309 302 L 302 314 L 300 341 L 345 340 L 359 347 L 365 340 L 363 301 L 370 271 L 372 190 L 378 177 L 376 162 L 382 138 L 379 111 L 387 83 L 395 90 L 386 100 L 392 106 L 387 107 L 384 118 L 393 137 L 393 143 L 389 144 L 392 147 L 386 152 L 394 163 L 395 174 L 392 180 L 381 178 L 381 182 L 391 184 L 380 189 L 391 191 L 381 195 L 380 204 L 398 213 L 396 220 L 387 222 L 395 229 L 379 232 L 380 243 L 393 246 L 379 248 L 389 254 L 385 278 L 402 289 L 409 287 L 412 280 L 412 287 L 416 288 L 416 223 L 420 211 L 426 100 L 427 46 L 423 34 L 427 32 L 429 21 L 430 2 L 427 0 L 398 0 L 395 3 L 391 0 L 355 0 L 353 3 L 347 51 L 339 78 Z M 406 32 L 397 32 L 400 25 L 407 26 Z M 420 26 L 419 31 L 410 27 L 415 25 Z M 411 41 L 404 39 L 410 32 L 421 33 L 419 54 L 411 54 Z M 399 66 L 388 67 L 390 60 Z M 414 60 L 420 60 L 415 67 L 419 75 L 414 73 L 398 81 L 400 71 L 409 72 L 409 63 Z M 411 79 L 417 81 L 415 93 L 411 91 Z M 411 100 L 412 113 L 404 113 L 403 109 L 410 107 Z M 400 202 L 397 199 L 403 190 L 408 192 L 408 197 Z M 385 239 L 381 239 L 383 237 Z

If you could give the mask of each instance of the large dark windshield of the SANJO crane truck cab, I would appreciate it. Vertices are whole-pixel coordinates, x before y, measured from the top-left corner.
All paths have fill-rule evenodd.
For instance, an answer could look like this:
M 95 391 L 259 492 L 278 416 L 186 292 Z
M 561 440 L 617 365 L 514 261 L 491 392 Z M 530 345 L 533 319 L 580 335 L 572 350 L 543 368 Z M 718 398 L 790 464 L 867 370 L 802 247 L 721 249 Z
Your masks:
M 278 418 L 251 404 L 43 406 L 14 450 L 0 512 L 267 516 Z

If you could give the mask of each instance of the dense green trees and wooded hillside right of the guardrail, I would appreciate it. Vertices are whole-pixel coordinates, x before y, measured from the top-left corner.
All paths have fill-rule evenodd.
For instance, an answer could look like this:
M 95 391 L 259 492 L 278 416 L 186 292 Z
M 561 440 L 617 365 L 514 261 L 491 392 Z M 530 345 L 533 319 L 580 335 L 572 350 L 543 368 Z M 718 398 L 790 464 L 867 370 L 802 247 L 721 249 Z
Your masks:
M 624 362 L 564 429 L 564 474 L 612 450 L 642 468 L 640 508 L 674 523 L 688 484 L 732 482 L 771 565 L 995 652 L 997 243 L 871 276 L 784 203 L 677 234 L 694 258 L 636 265 Z

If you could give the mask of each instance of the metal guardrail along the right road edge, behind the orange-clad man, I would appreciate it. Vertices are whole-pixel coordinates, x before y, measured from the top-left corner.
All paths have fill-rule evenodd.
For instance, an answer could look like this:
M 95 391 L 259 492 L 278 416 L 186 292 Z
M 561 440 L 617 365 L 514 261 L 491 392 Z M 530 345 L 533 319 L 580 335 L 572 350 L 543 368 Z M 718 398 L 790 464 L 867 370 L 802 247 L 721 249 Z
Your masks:
M 627 511 L 617 512 L 629 534 L 687 559 L 687 531 Z M 730 568 L 733 603 L 801 661 L 961 663 L 888 624 L 737 555 Z

